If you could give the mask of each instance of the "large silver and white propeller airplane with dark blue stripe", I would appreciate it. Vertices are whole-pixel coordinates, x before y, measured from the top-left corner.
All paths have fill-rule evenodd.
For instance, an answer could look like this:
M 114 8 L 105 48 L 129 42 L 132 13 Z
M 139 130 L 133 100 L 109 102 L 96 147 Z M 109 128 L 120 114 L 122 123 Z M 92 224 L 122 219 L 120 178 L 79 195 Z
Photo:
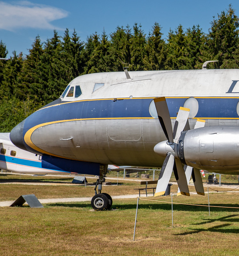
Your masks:
M 15 126 L 10 139 L 48 166 L 74 163 L 99 175 L 95 210 L 112 204 L 101 193 L 108 164 L 162 166 L 155 195 L 164 193 L 173 169 L 187 196 L 183 165 L 191 166 L 200 194 L 199 170 L 239 173 L 239 69 L 206 69 L 207 63 L 201 70 L 78 76 L 59 99 Z M 196 119 L 205 127 L 192 129 Z

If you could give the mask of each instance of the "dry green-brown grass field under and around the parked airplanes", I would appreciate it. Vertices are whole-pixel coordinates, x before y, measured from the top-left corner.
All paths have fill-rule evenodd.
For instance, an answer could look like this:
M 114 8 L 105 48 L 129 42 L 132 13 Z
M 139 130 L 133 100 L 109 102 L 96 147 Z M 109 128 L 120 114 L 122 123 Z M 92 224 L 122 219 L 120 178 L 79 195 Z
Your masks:
M 0 175 L 0 180 L 8 178 Z M 137 187 L 137 182 L 121 181 L 103 186 L 103 192 L 137 194 Z M 173 185 L 171 192 L 176 191 Z M 93 195 L 93 187 L 0 184 L 0 201 L 32 193 L 37 198 L 84 197 Z M 209 196 L 211 205 L 239 207 L 239 193 Z M 171 196 L 160 200 L 171 202 Z M 173 202 L 207 205 L 208 197 L 173 196 Z M 103 212 L 92 211 L 90 202 L 0 207 L 0 255 L 239 255 L 239 209 L 211 207 L 209 216 L 208 207 L 174 204 L 172 227 L 171 204 L 139 200 L 133 241 L 136 204 L 137 199 L 117 199 L 116 210 Z

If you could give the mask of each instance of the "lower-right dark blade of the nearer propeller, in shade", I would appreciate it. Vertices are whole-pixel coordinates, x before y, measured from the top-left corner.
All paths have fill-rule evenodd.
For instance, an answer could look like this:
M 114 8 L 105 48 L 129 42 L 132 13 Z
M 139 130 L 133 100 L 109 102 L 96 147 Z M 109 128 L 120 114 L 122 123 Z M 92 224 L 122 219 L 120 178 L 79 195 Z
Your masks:
M 173 172 L 178 182 L 180 193 L 185 196 L 190 196 L 188 186 L 187 186 L 187 178 L 186 178 L 180 159 L 175 158 L 175 165 L 173 166 Z

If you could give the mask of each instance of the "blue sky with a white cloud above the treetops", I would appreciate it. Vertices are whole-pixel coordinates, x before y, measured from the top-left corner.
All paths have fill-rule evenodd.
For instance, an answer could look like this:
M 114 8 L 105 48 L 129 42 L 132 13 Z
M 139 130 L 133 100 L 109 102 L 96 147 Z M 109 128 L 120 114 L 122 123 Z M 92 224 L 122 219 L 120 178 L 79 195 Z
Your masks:
M 28 54 L 37 35 L 45 42 L 54 29 L 63 36 L 66 28 L 70 35 L 75 28 L 81 41 L 95 32 L 101 35 L 103 30 L 109 35 L 117 26 L 132 28 L 134 23 L 141 24 L 148 35 L 158 22 L 165 38 L 170 28 L 175 30 L 179 24 L 185 30 L 199 24 L 207 33 L 213 16 L 217 18 L 229 4 L 239 16 L 238 0 L 0 0 L 0 40 L 10 57 L 14 50 Z

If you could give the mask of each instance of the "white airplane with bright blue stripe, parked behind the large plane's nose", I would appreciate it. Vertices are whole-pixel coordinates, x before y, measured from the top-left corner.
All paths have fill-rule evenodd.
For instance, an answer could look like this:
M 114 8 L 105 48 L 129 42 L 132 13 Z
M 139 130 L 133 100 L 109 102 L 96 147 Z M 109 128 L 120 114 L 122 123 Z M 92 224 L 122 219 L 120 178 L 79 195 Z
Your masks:
M 113 169 L 114 166 L 111 168 Z M 70 172 L 70 167 L 68 170 L 44 168 L 42 156 L 17 148 L 10 140 L 10 132 L 0 133 L 0 169 L 41 175 L 57 173 L 79 174 L 75 170 Z

